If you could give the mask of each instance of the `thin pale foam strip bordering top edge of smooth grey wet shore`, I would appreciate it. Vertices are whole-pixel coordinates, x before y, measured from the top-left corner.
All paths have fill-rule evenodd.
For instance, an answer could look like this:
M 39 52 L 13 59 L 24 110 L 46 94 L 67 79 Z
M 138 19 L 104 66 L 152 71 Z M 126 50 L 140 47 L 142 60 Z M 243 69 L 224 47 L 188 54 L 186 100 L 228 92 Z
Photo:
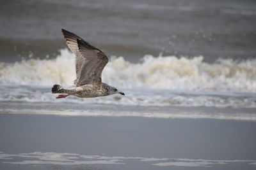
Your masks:
M 207 111 L 120 111 L 120 110 L 38 110 L 38 109 L 2 109 L 0 114 L 22 115 L 63 115 L 63 116 L 90 116 L 90 117 L 147 117 L 147 118 L 208 118 L 219 120 L 256 121 L 255 113 L 215 113 Z

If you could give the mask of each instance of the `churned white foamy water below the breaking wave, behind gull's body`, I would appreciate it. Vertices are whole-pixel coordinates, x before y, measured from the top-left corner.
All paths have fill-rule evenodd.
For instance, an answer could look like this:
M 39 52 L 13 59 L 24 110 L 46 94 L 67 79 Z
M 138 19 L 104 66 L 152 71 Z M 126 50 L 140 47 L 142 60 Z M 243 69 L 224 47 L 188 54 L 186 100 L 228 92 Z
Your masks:
M 51 94 L 51 87 L 33 89 L 33 87 L 1 87 L 0 101 L 26 102 L 26 103 L 81 103 L 81 104 L 118 104 L 124 106 L 207 106 L 256 108 L 256 95 L 254 94 L 218 94 L 175 92 L 171 90 L 130 90 L 123 89 L 125 96 L 113 95 L 97 98 L 79 98 L 69 96 L 63 100 L 55 99 Z

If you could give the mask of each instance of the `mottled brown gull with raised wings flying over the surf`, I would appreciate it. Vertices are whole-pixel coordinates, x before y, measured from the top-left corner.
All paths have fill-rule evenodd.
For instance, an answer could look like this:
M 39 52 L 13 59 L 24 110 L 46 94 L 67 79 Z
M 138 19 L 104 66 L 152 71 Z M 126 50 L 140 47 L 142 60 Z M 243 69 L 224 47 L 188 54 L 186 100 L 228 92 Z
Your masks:
M 61 94 L 56 99 L 73 95 L 77 97 L 100 97 L 121 94 L 115 87 L 101 81 L 101 73 L 108 57 L 76 34 L 61 29 L 68 48 L 76 55 L 76 80 L 74 86 L 53 85 L 52 94 Z

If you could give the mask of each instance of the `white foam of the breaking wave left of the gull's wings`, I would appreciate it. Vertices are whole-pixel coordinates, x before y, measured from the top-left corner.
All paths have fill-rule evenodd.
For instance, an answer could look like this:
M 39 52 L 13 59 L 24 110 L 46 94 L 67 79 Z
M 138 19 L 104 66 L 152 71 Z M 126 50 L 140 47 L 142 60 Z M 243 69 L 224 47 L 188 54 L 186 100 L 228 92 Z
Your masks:
M 75 58 L 68 50 L 61 50 L 56 59 L 29 59 L 6 64 L 0 62 L 0 83 L 19 85 L 72 84 L 75 78 Z

